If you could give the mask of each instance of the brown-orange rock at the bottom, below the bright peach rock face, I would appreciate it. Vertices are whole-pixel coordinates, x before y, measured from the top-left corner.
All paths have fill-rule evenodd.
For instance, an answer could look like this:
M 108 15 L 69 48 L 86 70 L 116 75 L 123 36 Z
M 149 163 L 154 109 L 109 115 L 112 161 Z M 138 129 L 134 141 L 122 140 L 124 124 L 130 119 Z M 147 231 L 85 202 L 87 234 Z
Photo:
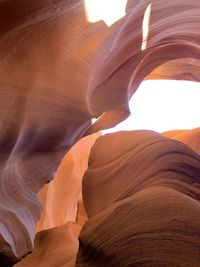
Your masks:
M 15 267 L 74 267 L 80 225 L 68 222 L 37 233 L 33 252 Z

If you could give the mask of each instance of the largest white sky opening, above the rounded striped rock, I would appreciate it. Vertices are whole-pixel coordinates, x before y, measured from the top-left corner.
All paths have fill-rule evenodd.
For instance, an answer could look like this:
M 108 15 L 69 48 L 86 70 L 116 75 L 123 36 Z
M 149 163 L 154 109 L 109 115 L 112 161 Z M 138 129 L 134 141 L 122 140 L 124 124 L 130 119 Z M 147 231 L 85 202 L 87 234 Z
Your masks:
M 164 132 L 200 127 L 200 83 L 144 81 L 129 102 L 128 119 L 103 134 L 116 131 Z

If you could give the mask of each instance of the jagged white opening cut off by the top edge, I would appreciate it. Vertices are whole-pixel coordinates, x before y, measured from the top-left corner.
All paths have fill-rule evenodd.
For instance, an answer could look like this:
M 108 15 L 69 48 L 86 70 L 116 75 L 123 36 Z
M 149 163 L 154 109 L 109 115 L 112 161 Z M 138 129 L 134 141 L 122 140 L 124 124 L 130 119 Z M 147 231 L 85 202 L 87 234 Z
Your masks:
M 111 26 L 126 15 L 127 0 L 84 0 L 84 4 L 89 22 L 103 20 Z

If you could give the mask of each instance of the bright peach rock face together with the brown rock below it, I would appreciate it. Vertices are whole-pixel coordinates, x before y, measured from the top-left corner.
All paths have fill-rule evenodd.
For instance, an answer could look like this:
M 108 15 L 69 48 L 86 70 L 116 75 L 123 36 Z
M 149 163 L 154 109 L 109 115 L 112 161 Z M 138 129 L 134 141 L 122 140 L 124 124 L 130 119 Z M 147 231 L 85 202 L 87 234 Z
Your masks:
M 73 267 L 78 235 L 87 219 L 82 200 L 82 177 L 90 149 L 99 134 L 81 139 L 66 154 L 55 178 L 39 192 L 43 211 L 37 224 L 33 252 L 16 267 Z

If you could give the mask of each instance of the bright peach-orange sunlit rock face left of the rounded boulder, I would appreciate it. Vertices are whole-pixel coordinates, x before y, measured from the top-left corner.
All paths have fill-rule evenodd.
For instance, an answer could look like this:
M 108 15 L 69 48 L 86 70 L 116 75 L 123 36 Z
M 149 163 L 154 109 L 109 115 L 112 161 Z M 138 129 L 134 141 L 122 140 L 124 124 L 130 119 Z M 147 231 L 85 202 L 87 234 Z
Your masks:
M 61 162 L 54 180 L 39 192 L 43 211 L 37 231 L 84 220 L 85 214 L 77 213 L 83 201 L 82 177 L 88 167 L 91 147 L 99 136 L 93 134 L 75 144 Z

